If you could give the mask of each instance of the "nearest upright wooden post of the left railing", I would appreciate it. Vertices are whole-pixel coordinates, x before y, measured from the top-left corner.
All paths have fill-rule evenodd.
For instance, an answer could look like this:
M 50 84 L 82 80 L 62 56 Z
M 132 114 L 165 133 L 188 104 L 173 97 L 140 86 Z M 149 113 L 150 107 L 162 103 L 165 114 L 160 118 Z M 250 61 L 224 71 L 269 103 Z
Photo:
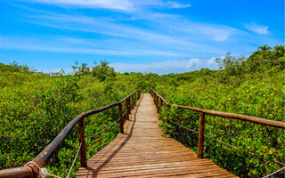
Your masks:
M 80 163 L 82 167 L 87 166 L 86 163 L 86 145 L 85 145 L 85 134 L 84 134 L 84 117 L 78 122 L 78 134 L 79 134 L 79 144 L 82 143 L 80 149 Z

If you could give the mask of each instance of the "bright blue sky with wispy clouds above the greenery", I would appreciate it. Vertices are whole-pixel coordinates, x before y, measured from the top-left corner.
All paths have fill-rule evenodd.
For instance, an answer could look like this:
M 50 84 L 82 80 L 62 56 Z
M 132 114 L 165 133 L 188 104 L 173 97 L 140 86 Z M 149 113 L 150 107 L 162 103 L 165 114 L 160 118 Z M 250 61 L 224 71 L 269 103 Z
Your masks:
M 0 26 L 0 62 L 178 73 L 284 44 L 284 1 L 0 0 Z

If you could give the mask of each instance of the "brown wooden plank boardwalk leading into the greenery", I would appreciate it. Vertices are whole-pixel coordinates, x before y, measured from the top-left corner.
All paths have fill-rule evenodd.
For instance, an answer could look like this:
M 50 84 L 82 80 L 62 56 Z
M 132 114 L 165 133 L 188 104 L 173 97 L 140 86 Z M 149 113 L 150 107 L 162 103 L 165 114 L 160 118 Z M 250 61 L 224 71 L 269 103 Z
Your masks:
M 143 93 L 125 134 L 80 167 L 77 177 L 237 177 L 174 139 L 161 136 L 151 94 Z

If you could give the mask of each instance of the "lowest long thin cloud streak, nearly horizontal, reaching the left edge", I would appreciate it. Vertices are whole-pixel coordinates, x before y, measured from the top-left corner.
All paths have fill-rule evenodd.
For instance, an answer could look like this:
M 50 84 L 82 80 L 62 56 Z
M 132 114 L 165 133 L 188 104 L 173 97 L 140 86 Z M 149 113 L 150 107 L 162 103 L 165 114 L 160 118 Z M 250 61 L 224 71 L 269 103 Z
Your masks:
M 84 44 L 78 47 L 77 44 Z M 100 45 L 93 43 L 92 40 L 86 41 L 77 38 L 30 38 L 17 36 L 2 36 L 0 49 L 13 49 L 25 51 L 40 51 L 53 53 L 88 53 L 100 54 L 105 56 L 146 56 L 146 55 L 163 55 L 163 56 L 180 56 L 185 57 L 182 53 L 172 53 L 161 50 L 151 50 L 148 48 L 131 48 L 129 46 L 110 46 L 109 49 L 101 48 Z

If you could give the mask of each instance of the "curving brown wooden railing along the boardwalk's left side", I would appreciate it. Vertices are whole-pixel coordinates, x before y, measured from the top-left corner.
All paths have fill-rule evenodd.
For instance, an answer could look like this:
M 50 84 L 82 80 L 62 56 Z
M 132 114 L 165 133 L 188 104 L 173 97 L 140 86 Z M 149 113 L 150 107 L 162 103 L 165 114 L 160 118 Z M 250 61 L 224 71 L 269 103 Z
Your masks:
M 137 94 L 137 97 L 134 97 L 134 94 Z M 78 125 L 78 134 L 79 134 L 79 145 L 81 145 L 80 148 L 80 163 L 81 166 L 86 166 L 86 153 L 85 153 L 85 129 L 84 129 L 84 118 L 89 117 L 91 115 L 94 115 L 96 113 L 100 113 L 106 109 L 110 109 L 113 107 L 118 106 L 118 121 L 119 121 L 119 129 L 120 133 L 124 134 L 124 121 L 123 121 L 123 108 L 122 104 L 125 102 L 126 104 L 126 120 L 129 120 L 129 114 L 131 113 L 131 108 L 134 108 L 135 102 L 134 98 L 137 100 L 140 99 L 141 91 L 137 90 L 134 91 L 134 93 L 129 94 L 121 101 L 111 103 L 110 105 L 104 106 L 100 109 L 94 109 L 89 110 L 85 113 L 82 113 L 75 117 L 73 120 L 69 122 L 68 125 L 65 126 L 63 130 L 61 130 L 61 133 L 58 134 L 55 139 L 53 139 L 53 142 L 51 142 L 47 147 L 45 147 L 45 150 L 43 150 L 41 153 L 37 155 L 36 158 L 32 160 L 32 162 L 36 163 L 39 167 L 44 167 L 50 158 L 53 157 L 56 150 L 59 149 L 61 146 L 61 143 L 65 140 L 65 138 L 68 136 L 72 128 L 77 124 Z M 4 177 L 37 177 L 39 174 L 39 169 L 34 164 L 28 164 L 27 166 L 20 166 L 5 170 L 0 170 L 0 178 Z

